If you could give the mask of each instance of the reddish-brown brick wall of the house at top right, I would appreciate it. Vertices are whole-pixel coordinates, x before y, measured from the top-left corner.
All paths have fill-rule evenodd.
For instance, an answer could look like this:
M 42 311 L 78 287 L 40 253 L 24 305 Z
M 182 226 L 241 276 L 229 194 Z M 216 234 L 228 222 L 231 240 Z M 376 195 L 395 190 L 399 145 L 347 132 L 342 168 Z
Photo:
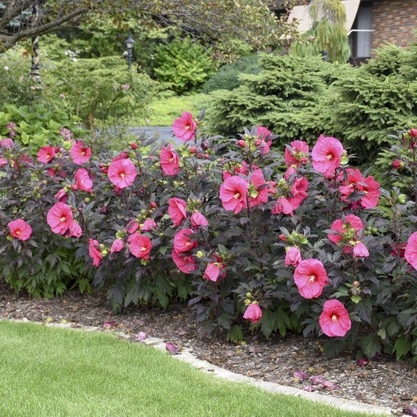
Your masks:
M 417 0 L 374 0 L 372 49 L 385 41 L 400 47 L 414 40 L 417 28 Z

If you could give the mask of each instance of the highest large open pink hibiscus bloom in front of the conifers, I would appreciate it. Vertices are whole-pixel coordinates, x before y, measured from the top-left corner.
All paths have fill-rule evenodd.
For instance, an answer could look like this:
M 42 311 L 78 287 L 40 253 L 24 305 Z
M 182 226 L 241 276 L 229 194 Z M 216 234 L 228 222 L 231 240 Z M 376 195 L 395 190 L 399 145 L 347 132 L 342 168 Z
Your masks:
M 339 140 L 321 135 L 311 152 L 313 168 L 326 177 L 332 177 L 336 168 L 341 165 L 342 155 L 343 146 Z

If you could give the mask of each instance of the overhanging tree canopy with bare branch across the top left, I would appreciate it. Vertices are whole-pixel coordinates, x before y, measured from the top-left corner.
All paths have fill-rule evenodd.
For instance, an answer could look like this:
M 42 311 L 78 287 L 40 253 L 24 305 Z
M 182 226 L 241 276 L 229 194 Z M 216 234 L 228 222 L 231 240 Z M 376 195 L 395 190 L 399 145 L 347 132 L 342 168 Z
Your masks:
M 284 6 L 293 3 L 286 0 Z M 38 19 L 31 17 L 34 6 Z M 120 26 L 135 17 L 146 28 L 180 29 L 221 53 L 236 39 L 259 49 L 296 33 L 287 16 L 273 13 L 265 0 L 5 0 L 0 1 L 0 48 L 97 14 L 111 16 Z

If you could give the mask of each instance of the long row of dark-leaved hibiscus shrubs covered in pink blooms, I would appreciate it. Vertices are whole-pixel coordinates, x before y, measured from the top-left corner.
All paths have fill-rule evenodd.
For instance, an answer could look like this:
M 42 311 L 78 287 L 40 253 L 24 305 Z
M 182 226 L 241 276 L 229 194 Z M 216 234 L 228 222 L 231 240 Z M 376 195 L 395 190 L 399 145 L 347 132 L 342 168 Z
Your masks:
M 331 353 L 417 359 L 414 196 L 350 167 L 336 138 L 282 156 L 262 126 L 229 145 L 202 115 L 172 128 L 177 149 L 143 140 L 115 155 L 71 138 L 37 162 L 0 142 L 4 268 L 30 282 L 32 265 L 54 271 L 47 256 L 72 247 L 80 279 L 115 309 L 188 299 L 201 335 L 239 341 L 249 324 L 322 336 Z M 415 163 L 414 131 L 403 137 Z

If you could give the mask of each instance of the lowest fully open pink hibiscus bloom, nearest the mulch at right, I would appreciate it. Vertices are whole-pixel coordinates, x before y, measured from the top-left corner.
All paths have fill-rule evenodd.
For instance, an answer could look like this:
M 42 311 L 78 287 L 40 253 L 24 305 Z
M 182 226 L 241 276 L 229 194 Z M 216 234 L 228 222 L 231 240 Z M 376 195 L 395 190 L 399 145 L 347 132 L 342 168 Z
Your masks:
M 349 313 L 338 300 L 327 300 L 325 302 L 318 322 L 322 332 L 329 337 L 343 337 L 352 326 Z

